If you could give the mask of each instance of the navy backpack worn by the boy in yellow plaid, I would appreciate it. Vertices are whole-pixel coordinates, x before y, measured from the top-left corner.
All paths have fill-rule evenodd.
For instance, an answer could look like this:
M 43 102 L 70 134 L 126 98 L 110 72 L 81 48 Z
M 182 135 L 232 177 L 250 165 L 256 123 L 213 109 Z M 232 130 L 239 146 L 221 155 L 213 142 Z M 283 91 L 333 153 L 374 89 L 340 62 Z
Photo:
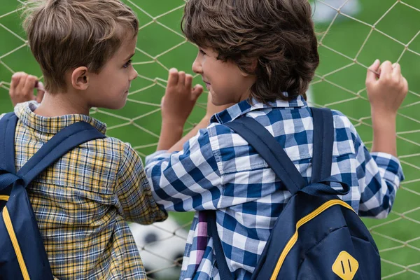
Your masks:
M 17 123 L 14 113 L 0 120 L 0 279 L 53 279 L 25 188 L 72 148 L 105 136 L 88 123 L 74 123 L 52 137 L 16 172 Z

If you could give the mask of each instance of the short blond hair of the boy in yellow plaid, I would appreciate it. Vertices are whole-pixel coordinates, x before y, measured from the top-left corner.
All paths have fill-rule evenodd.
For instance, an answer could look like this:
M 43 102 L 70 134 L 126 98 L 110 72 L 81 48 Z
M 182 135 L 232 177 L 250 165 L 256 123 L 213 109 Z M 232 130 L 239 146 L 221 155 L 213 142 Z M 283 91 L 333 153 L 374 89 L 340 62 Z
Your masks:
M 23 27 L 41 66 L 45 90 L 66 90 L 65 73 L 86 66 L 99 73 L 139 20 L 118 0 L 29 0 Z

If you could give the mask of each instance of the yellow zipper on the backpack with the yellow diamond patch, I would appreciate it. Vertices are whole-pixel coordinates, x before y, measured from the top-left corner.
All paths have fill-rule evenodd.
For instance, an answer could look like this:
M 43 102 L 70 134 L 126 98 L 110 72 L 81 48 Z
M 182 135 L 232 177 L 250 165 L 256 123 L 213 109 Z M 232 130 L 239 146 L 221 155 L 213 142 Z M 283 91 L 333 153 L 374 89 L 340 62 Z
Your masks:
M 311 221 L 313 218 L 315 218 L 316 216 L 318 216 L 319 214 L 321 214 L 323 211 L 325 211 L 326 209 L 334 206 L 334 205 L 341 205 L 342 207 L 346 207 L 352 211 L 353 208 L 350 207 L 349 204 L 346 204 L 346 202 L 343 202 L 342 200 L 330 200 L 328 202 L 325 202 L 324 204 L 322 204 L 320 207 L 318 207 L 317 209 L 315 209 L 314 211 L 312 211 L 310 214 L 308 214 L 307 216 L 304 216 L 303 218 L 301 218 L 297 223 L 296 223 L 296 231 L 295 234 L 289 239 L 289 241 L 287 242 L 286 246 L 284 247 L 283 252 L 281 252 L 280 258 L 277 261 L 276 267 L 274 268 L 274 272 L 270 278 L 270 280 L 275 280 L 277 278 L 277 276 L 279 275 L 280 269 L 281 269 L 281 265 L 283 265 L 284 259 L 286 259 L 286 255 L 290 252 L 291 248 L 295 245 L 296 241 L 297 241 L 297 230 L 299 230 L 299 228 L 304 225 L 305 223 Z

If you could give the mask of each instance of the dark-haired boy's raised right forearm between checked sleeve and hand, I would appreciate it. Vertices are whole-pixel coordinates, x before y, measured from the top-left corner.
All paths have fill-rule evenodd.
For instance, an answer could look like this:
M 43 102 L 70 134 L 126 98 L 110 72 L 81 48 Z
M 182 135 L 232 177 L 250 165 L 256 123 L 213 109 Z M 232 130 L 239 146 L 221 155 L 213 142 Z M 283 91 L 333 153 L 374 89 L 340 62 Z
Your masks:
M 372 110 L 372 127 L 372 152 L 389 153 L 396 157 L 397 134 L 395 114 L 379 113 Z

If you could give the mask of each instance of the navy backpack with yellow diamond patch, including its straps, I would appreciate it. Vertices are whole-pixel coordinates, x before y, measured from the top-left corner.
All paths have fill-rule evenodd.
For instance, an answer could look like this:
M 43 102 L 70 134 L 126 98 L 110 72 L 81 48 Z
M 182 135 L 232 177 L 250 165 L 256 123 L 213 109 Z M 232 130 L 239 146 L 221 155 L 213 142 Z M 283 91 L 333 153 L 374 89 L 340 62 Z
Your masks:
M 349 204 L 337 197 L 350 188 L 330 176 L 335 133 L 332 113 L 329 109 L 311 111 L 314 157 L 309 185 L 281 145 L 253 118 L 226 124 L 255 148 L 292 194 L 251 279 L 381 279 L 381 260 L 369 230 Z M 331 188 L 331 183 L 343 190 Z M 207 211 L 207 218 L 221 279 L 233 279 L 217 234 L 215 211 Z

